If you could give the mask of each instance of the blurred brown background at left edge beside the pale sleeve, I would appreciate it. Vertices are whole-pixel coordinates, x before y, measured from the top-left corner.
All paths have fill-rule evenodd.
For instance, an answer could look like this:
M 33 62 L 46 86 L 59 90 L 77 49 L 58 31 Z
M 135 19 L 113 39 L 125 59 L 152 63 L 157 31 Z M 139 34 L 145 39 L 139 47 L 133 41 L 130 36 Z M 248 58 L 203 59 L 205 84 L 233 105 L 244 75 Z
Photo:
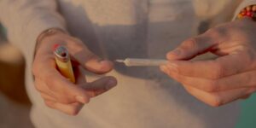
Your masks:
M 0 25 L 0 128 L 33 128 L 24 84 L 25 61 Z

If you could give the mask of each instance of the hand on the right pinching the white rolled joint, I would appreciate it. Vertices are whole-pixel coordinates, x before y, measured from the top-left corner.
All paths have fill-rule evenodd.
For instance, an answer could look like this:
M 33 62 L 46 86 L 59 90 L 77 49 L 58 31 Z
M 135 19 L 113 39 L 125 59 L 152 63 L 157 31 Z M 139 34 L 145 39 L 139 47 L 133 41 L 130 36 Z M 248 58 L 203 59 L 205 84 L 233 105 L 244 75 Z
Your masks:
M 236 20 L 189 38 L 160 67 L 202 102 L 218 107 L 250 96 L 256 90 L 256 22 Z M 215 60 L 189 61 L 212 52 Z

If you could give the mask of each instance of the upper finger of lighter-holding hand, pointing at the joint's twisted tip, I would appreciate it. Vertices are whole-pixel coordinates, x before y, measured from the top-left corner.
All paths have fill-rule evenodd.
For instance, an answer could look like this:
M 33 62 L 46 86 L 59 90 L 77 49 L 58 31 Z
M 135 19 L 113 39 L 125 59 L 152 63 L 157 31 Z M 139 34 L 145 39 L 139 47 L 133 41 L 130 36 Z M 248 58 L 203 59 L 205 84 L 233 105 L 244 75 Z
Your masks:
M 111 61 L 102 61 L 100 57 L 93 54 L 90 49 L 86 46 L 76 44 L 68 44 L 67 47 L 70 54 L 73 56 L 74 61 L 79 61 L 79 63 L 85 67 L 87 70 L 93 73 L 108 73 L 113 68 L 113 63 Z

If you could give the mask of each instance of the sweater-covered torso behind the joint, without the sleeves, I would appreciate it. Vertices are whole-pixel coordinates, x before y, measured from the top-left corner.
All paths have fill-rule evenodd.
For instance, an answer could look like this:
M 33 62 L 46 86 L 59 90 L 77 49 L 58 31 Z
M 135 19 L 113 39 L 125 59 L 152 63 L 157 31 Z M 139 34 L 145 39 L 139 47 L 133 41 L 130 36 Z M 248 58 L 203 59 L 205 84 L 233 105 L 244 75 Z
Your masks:
M 110 60 L 126 57 L 165 58 L 184 39 L 197 34 L 190 0 L 60 0 L 61 13 L 73 36 Z M 108 73 L 118 87 L 93 99 L 77 117 L 43 108 L 62 127 L 215 128 L 234 127 L 237 102 L 208 107 L 161 73 L 158 67 L 124 67 Z M 89 75 L 89 81 L 98 76 Z M 31 90 L 31 93 L 35 90 Z M 40 104 L 42 102 L 35 102 Z M 37 108 L 34 108 L 37 109 Z M 56 121 L 56 122 L 57 122 Z

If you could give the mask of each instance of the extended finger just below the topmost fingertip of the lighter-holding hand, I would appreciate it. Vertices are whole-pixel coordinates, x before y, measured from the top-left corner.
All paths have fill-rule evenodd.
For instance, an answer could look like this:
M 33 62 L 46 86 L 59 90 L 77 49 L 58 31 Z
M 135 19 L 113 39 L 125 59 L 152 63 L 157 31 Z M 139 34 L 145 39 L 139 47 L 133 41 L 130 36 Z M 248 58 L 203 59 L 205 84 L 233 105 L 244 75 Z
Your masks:
M 85 84 L 82 87 L 87 90 L 87 94 L 90 97 L 99 96 L 102 93 L 112 89 L 116 86 L 117 80 L 113 77 L 104 77 L 102 79 L 97 79 L 96 81 Z

